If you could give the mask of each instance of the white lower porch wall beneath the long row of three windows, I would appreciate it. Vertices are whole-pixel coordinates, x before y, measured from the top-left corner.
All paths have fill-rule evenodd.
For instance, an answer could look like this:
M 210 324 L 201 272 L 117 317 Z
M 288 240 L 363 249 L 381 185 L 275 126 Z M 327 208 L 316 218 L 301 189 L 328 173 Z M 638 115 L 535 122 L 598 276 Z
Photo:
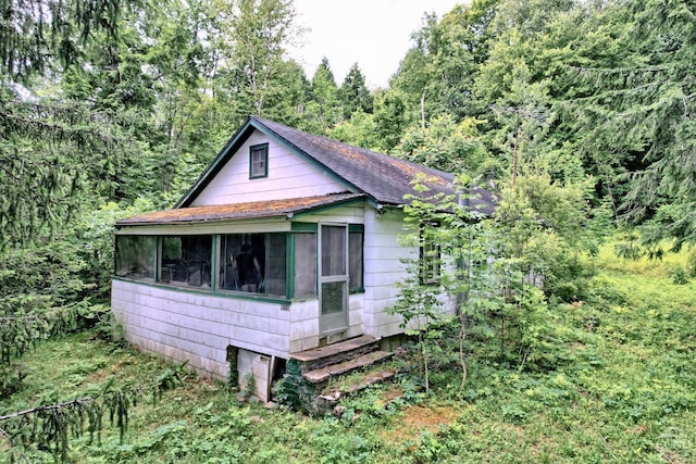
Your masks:
M 113 279 L 111 306 L 128 342 L 226 379 L 227 346 L 287 358 L 290 311 L 277 303 Z

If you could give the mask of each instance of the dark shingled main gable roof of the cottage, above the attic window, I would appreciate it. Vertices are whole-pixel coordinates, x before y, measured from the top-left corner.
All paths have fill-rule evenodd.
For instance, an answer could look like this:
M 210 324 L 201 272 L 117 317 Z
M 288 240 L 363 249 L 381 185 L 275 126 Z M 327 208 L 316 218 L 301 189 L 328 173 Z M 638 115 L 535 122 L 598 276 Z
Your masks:
M 411 185 L 418 176 L 424 177 L 424 184 L 432 192 L 456 193 L 451 186 L 455 179 L 452 174 L 250 116 L 175 208 L 189 206 L 254 129 L 316 165 L 341 183 L 346 190 L 363 193 L 380 204 L 408 203 L 403 196 L 418 195 Z M 470 204 L 481 213 L 492 215 L 494 197 L 483 189 L 476 189 L 472 193 Z

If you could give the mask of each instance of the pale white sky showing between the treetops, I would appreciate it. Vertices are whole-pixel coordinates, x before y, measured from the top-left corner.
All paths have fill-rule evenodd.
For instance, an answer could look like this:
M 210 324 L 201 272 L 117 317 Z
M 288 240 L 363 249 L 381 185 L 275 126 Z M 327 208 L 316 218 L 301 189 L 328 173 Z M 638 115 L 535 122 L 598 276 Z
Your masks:
M 312 78 L 323 57 L 340 87 L 353 63 L 368 88 L 386 88 L 389 77 L 411 48 L 411 34 L 424 13 L 438 18 L 462 0 L 295 0 L 299 26 L 309 28 L 290 57 Z

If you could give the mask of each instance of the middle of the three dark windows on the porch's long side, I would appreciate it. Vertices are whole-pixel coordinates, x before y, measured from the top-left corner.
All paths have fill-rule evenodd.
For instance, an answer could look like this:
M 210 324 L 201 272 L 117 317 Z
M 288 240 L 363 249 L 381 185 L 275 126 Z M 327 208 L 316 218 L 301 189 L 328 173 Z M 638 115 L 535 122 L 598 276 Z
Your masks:
M 162 237 L 159 281 L 210 288 L 211 236 Z

